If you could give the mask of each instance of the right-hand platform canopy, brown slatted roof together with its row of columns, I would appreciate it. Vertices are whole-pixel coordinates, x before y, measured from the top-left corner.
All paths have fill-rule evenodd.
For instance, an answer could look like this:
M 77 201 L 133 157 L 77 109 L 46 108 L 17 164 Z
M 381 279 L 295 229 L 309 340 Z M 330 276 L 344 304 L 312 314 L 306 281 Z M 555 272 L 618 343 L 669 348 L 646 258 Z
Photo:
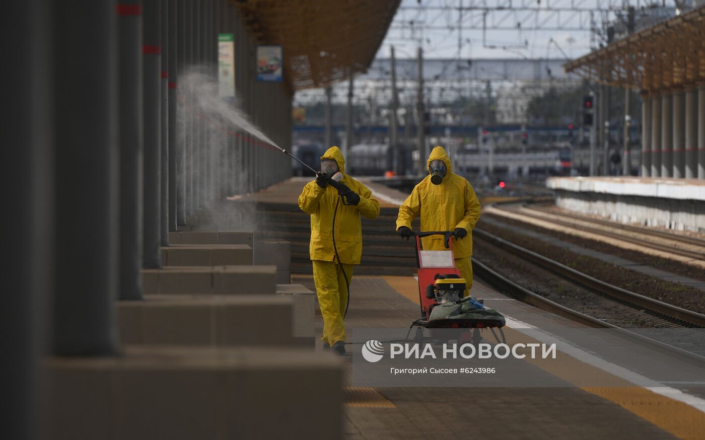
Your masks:
M 642 176 L 705 178 L 705 7 L 564 67 L 601 85 L 642 91 Z

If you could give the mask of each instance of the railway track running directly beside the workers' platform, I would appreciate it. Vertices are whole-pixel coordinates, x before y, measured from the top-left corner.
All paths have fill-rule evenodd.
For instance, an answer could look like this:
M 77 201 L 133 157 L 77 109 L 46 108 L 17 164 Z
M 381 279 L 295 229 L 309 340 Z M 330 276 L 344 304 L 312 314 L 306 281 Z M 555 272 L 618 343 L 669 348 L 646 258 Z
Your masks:
M 479 228 L 474 229 L 474 238 L 506 250 L 541 269 L 556 274 L 561 279 L 580 286 L 584 291 L 589 291 L 586 294 L 589 298 L 582 299 L 589 300 L 591 305 L 601 312 L 578 312 L 559 302 L 544 298 L 498 274 L 487 264 L 473 257 L 475 273 L 514 298 L 587 326 L 620 329 L 631 337 L 705 362 L 703 331 L 699 330 L 705 328 L 705 314 L 685 310 L 612 286 Z M 668 331 L 645 332 L 644 329 L 668 329 Z M 644 333 L 649 333 L 649 336 L 644 336 Z

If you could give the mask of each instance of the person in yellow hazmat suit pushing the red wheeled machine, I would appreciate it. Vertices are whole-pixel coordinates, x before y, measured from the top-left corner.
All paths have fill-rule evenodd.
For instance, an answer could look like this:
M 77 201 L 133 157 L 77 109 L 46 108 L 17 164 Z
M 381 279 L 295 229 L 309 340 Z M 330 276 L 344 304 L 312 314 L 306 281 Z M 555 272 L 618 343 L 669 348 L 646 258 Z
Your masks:
M 421 231 L 454 231 L 453 257 L 467 282 L 465 296 L 472 287 L 472 228 L 480 218 L 480 202 L 465 178 L 453 173 L 443 147 L 435 147 L 427 161 L 429 175 L 419 182 L 399 207 L 396 228 L 402 238 L 411 233 L 411 222 L 421 215 Z M 465 238 L 467 236 L 467 238 Z M 425 250 L 444 250 L 443 237 L 422 238 Z

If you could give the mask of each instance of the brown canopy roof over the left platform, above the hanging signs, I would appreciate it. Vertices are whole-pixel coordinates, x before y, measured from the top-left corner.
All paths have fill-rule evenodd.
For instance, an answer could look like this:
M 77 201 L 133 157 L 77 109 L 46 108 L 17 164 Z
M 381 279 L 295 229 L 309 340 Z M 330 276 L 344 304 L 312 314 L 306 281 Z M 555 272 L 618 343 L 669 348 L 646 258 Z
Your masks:
M 400 0 L 237 0 L 262 44 L 281 45 L 292 90 L 326 87 L 364 72 Z

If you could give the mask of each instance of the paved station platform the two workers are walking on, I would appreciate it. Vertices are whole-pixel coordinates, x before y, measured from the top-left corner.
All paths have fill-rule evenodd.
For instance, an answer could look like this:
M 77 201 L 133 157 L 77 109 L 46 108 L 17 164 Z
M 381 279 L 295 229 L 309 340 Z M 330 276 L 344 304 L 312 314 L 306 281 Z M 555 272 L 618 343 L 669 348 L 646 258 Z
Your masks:
M 398 190 L 360 180 L 392 214 L 406 197 Z M 292 178 L 235 200 L 295 207 L 307 181 L 310 178 Z M 281 219 L 282 223 L 298 222 L 295 209 L 287 215 L 290 218 Z M 379 227 L 389 226 L 388 217 L 379 220 Z M 370 225 L 363 225 L 363 235 Z M 393 233 L 393 225 L 389 227 Z M 367 245 L 364 241 L 363 246 Z M 386 329 L 403 336 L 419 317 L 414 276 L 369 275 L 362 269 L 355 268 L 345 319 L 349 335 L 344 357 L 348 365 L 346 439 L 705 438 L 702 369 L 661 348 L 634 343 L 625 350 L 624 341 L 610 335 L 594 341 L 571 340 L 571 334 L 587 331 L 587 327 L 508 298 L 480 279 L 475 279 L 471 293 L 505 315 L 507 340 L 560 341 L 557 362 L 526 360 L 522 368 L 527 375 L 520 386 L 502 386 L 501 380 L 489 377 L 477 386 L 426 386 L 420 379 L 414 386 L 361 386 L 354 370 L 356 362 L 361 362 L 366 332 Z M 315 290 L 310 274 L 292 269 L 292 282 Z M 320 335 L 323 323 L 319 312 L 317 316 L 315 331 Z M 317 350 L 323 350 L 318 338 Z M 630 359 L 623 364 L 612 362 L 611 355 L 617 350 L 625 350 Z M 496 365 L 501 367 L 499 362 Z M 673 369 L 686 372 L 689 380 L 671 380 Z M 592 383 L 584 383 L 586 375 Z M 533 377 L 553 385 L 532 384 Z

